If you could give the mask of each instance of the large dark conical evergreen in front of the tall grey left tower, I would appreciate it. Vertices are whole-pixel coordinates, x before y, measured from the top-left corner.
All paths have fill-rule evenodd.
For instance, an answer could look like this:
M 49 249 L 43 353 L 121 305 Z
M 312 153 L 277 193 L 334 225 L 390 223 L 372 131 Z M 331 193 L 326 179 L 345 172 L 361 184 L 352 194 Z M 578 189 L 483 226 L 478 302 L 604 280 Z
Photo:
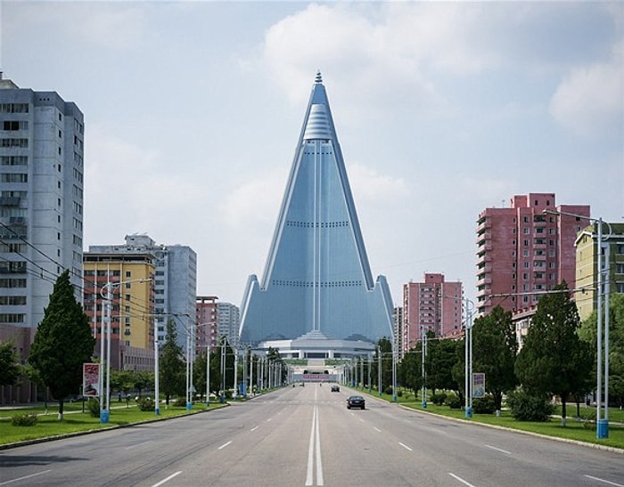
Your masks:
M 94 345 L 89 319 L 76 301 L 70 272 L 65 271 L 54 284 L 29 353 L 29 364 L 59 402 L 59 420 L 65 397 L 79 392 L 82 364 L 91 361 Z

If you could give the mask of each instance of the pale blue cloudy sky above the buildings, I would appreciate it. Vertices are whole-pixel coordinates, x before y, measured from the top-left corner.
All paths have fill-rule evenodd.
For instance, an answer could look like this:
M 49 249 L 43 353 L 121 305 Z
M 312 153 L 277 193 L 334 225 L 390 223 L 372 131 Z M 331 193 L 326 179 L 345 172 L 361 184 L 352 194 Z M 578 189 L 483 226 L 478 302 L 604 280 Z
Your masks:
M 316 70 L 374 275 L 474 295 L 475 221 L 554 192 L 624 216 L 624 3 L 11 2 L 0 69 L 85 113 L 85 247 L 260 275 Z

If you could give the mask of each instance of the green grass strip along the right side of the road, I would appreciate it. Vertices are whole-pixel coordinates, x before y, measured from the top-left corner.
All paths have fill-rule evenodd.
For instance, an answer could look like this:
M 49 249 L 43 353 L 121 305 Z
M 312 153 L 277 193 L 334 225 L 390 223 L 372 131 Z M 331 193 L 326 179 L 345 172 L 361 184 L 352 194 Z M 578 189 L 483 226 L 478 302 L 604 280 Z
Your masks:
M 367 390 L 364 391 L 365 393 Z M 379 398 L 379 394 L 371 393 L 372 396 Z M 382 394 L 381 399 L 392 402 L 392 396 Z M 611 408 L 609 410 L 609 437 L 596 438 L 595 422 L 586 418 L 591 418 L 595 413 L 595 408 L 581 407 L 580 417 L 577 417 L 576 404 L 568 404 L 568 418 L 566 426 L 562 426 L 561 418 L 554 416 L 550 421 L 544 423 L 535 421 L 519 421 L 514 419 L 508 410 L 502 410 L 501 415 L 496 414 L 472 414 L 472 418 L 465 418 L 464 410 L 452 410 L 448 406 L 437 406 L 431 402 L 427 403 L 427 407 L 423 408 L 420 398 L 416 398 L 414 394 L 403 394 L 397 397 L 397 402 L 408 408 L 446 416 L 448 418 L 456 418 L 472 423 L 481 423 L 489 426 L 499 426 L 518 431 L 533 434 L 543 434 L 555 438 L 576 442 L 587 442 L 601 446 L 608 446 L 622 450 L 624 453 L 624 410 Z M 555 415 L 561 415 L 561 409 L 555 411 Z

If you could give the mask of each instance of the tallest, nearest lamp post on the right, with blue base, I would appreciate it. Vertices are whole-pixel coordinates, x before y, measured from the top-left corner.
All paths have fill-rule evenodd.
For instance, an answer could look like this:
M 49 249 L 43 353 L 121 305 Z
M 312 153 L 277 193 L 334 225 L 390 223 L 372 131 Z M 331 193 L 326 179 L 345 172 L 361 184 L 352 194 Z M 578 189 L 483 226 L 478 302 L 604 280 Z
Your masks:
M 608 240 L 612 236 L 611 225 L 603 222 L 603 218 L 590 218 L 586 215 L 576 215 L 574 213 L 566 213 L 545 209 L 548 215 L 567 215 L 576 218 L 582 218 L 589 222 L 597 223 L 596 231 L 596 288 L 598 292 L 597 310 L 596 310 L 596 410 L 595 410 L 595 436 L 597 439 L 609 437 L 609 279 L 607 276 L 606 286 L 603 287 L 603 272 L 606 272 L 604 265 L 603 246 L 606 256 L 609 255 L 608 245 L 604 245 L 604 240 Z M 609 228 L 609 233 L 605 237 L 603 235 L 603 223 Z M 592 232 L 592 239 L 594 233 Z M 605 295 L 605 303 L 603 309 L 603 294 Z M 604 326 L 603 326 L 604 317 Z M 604 331 L 604 340 L 603 340 Z M 603 345 L 604 345 L 604 361 L 603 361 Z M 604 363 L 603 363 L 604 362 Z M 604 371 L 604 406 L 603 402 L 603 371 Z

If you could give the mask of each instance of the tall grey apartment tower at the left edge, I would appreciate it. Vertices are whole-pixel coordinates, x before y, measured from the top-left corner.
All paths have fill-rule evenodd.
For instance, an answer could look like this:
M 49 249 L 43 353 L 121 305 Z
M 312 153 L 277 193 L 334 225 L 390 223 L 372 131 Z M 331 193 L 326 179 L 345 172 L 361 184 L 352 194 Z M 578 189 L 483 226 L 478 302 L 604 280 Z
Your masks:
M 75 103 L 0 72 L 0 341 L 22 359 L 65 269 L 82 299 L 84 133 Z M 33 394 L 0 386 L 0 402 Z

